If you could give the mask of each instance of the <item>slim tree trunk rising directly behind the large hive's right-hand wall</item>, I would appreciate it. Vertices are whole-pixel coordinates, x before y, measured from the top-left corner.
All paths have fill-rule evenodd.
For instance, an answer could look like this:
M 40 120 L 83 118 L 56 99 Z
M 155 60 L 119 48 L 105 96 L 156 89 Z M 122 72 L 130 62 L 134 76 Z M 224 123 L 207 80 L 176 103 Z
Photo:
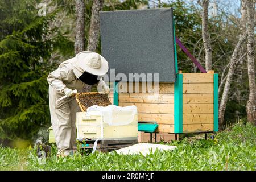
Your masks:
M 209 0 L 203 0 L 201 2 L 203 7 L 202 13 L 202 36 L 205 49 L 205 69 L 208 72 L 212 69 L 212 46 L 210 45 L 210 36 L 208 32 L 208 6 Z

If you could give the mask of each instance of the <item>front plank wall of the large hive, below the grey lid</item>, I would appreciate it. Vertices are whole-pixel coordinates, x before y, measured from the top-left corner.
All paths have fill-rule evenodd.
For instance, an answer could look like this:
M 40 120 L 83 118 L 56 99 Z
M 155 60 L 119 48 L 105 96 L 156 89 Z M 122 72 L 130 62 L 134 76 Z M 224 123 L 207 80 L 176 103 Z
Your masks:
M 159 88 L 159 93 L 152 93 L 155 88 Z M 127 82 L 119 82 L 119 106 L 135 105 L 138 107 L 138 121 L 156 121 L 159 124 L 157 131 L 174 133 L 174 83 L 159 83 L 154 87 L 154 83 L 150 86 L 134 82 L 130 90 L 132 93 Z M 135 93 L 138 90 L 139 93 Z M 109 97 L 113 103 L 113 90 Z

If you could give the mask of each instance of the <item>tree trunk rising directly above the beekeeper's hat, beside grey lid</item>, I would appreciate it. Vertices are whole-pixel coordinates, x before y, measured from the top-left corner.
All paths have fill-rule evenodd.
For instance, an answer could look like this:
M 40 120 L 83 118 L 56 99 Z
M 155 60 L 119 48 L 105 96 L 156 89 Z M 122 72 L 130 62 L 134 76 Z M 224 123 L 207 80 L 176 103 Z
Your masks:
M 95 52 L 98 46 L 98 39 L 100 36 L 100 11 L 103 7 L 103 3 L 104 0 L 93 1 L 87 51 Z

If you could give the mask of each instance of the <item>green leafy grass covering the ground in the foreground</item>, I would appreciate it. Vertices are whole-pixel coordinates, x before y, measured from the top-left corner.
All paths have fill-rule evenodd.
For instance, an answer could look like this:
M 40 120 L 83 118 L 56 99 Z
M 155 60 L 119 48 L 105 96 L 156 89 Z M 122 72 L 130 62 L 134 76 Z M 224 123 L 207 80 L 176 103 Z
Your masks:
M 76 154 L 67 158 L 53 155 L 45 163 L 32 150 L 0 147 L 1 170 L 255 170 L 256 127 L 237 123 L 216 134 L 216 140 L 187 139 L 167 144 L 174 151 L 143 155 L 119 155 L 116 152 L 89 155 Z

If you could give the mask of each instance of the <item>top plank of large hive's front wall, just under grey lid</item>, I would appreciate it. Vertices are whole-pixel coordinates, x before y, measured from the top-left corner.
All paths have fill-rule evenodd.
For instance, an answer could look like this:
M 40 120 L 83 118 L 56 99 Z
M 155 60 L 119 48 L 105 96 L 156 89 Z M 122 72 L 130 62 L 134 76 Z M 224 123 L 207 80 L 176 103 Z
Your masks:
M 160 82 L 158 87 L 155 87 L 154 82 L 151 85 L 148 83 L 142 82 L 133 82 L 133 86 L 129 90 L 128 82 L 119 82 L 118 83 L 118 92 L 119 93 L 174 93 L 174 83 Z M 142 87 L 143 86 L 143 87 Z M 154 90 L 156 89 L 156 90 Z M 113 93 L 113 89 L 110 89 L 110 93 Z

